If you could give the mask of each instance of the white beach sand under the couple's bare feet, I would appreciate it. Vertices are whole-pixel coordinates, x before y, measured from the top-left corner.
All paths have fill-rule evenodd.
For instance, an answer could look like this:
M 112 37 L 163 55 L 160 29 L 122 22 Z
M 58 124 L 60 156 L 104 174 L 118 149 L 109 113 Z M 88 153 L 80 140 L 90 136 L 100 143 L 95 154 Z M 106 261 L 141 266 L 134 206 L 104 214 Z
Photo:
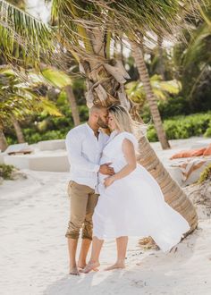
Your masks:
M 68 275 L 66 239 L 68 173 L 25 171 L 28 179 L 0 186 L 0 292 L 4 295 L 211 294 L 211 220 L 175 253 L 129 243 L 127 268 L 105 272 L 114 262 L 106 241 L 97 273 Z

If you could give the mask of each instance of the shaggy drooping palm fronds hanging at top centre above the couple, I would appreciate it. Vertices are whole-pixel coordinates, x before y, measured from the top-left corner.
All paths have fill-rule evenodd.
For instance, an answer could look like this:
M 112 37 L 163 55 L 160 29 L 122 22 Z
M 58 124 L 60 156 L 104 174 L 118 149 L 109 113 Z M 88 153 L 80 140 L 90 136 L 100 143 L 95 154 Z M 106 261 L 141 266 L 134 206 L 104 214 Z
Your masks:
M 104 33 L 112 31 L 115 38 L 122 37 L 124 33 L 136 41 L 145 36 L 155 42 L 151 33 L 162 33 L 165 36 L 166 33 L 169 35 L 174 32 L 181 18 L 185 17 L 186 10 L 194 12 L 198 2 L 54 0 L 52 9 L 57 10 L 57 23 L 63 38 L 71 40 L 74 46 L 79 46 L 80 40 L 84 47 L 90 49 L 89 40 L 92 44 L 95 42 L 91 33 L 96 29 Z M 191 8 L 185 6 L 187 3 L 192 4 Z M 81 33 L 81 28 L 85 34 Z

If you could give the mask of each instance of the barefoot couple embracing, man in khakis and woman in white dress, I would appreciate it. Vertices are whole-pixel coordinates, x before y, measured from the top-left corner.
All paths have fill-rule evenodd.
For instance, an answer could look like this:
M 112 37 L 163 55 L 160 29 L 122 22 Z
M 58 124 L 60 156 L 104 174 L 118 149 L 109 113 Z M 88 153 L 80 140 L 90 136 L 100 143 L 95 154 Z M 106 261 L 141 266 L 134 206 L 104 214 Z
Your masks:
M 107 127 L 112 131 L 110 137 L 102 131 Z M 140 130 L 141 124 L 134 122 L 122 105 L 108 109 L 94 105 L 89 121 L 67 134 L 70 274 L 96 270 L 105 239 L 116 240 L 116 262 L 106 268 L 112 270 L 125 267 L 128 236 L 151 236 L 160 249 L 169 251 L 190 230 L 189 223 L 165 203 L 152 175 L 137 164 L 136 134 Z M 80 229 L 82 241 L 76 262 Z

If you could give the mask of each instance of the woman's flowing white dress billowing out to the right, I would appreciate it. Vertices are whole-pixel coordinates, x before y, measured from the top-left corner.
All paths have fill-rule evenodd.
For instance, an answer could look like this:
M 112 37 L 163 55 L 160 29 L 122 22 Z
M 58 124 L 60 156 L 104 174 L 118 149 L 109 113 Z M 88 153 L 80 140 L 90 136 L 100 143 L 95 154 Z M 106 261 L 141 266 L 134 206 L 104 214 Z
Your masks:
M 122 153 L 123 139 L 130 139 L 137 149 L 138 141 L 131 133 L 116 135 L 114 131 L 100 160 L 100 164 L 112 162 L 115 173 L 127 164 Z M 100 196 L 93 215 L 93 235 L 98 239 L 151 236 L 160 249 L 168 251 L 190 230 L 189 223 L 165 203 L 156 180 L 140 164 L 107 188 L 105 177 L 99 173 Z

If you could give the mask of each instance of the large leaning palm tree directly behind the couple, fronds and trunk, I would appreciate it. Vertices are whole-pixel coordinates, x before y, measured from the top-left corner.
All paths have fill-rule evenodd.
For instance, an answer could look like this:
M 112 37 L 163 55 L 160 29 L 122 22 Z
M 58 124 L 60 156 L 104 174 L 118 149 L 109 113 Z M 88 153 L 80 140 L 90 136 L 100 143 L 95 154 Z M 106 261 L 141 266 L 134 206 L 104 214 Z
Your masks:
M 163 28 L 165 33 L 166 27 L 171 29 L 173 24 L 177 24 L 178 11 L 182 3 L 176 0 L 165 2 L 54 0 L 52 21 L 57 25 L 57 31 L 47 28 L 30 15 L 17 11 L 13 6 L 5 4 L 3 0 L 0 4 L 2 4 L 0 23 L 8 36 L 7 44 L 4 40 L 0 41 L 6 49 L 5 55 L 11 56 L 12 62 L 14 62 L 13 52 L 8 44 L 19 42 L 19 46 L 29 47 L 29 58 L 32 57 L 33 51 L 36 51 L 32 63 L 35 64 L 36 61 L 37 68 L 41 59 L 46 57 L 45 53 L 54 55 L 56 50 L 58 53 L 58 50 L 64 47 L 65 51 L 70 51 L 76 58 L 80 64 L 80 72 L 87 78 L 86 98 L 89 107 L 95 104 L 120 103 L 139 120 L 136 107 L 128 99 L 123 87 L 124 82 L 129 78 L 128 73 L 121 61 L 115 60 L 111 55 L 113 39 L 122 37 L 123 32 L 130 31 L 132 40 L 135 39 L 140 44 L 140 33 L 148 37 L 148 31 L 158 33 L 157 28 L 159 30 Z M 4 10 L 7 13 L 4 13 L 3 21 L 1 12 Z M 15 26 L 17 19 L 21 20 L 20 26 Z M 163 26 L 164 23 L 165 26 Z M 126 35 L 129 36 L 129 34 Z M 30 43 L 24 42 L 29 38 Z M 26 63 L 25 56 L 21 58 L 22 63 Z M 190 231 L 193 231 L 198 223 L 195 208 L 180 186 L 167 173 L 145 137 L 139 139 L 138 160 L 155 176 L 163 190 L 166 202 L 188 220 Z

